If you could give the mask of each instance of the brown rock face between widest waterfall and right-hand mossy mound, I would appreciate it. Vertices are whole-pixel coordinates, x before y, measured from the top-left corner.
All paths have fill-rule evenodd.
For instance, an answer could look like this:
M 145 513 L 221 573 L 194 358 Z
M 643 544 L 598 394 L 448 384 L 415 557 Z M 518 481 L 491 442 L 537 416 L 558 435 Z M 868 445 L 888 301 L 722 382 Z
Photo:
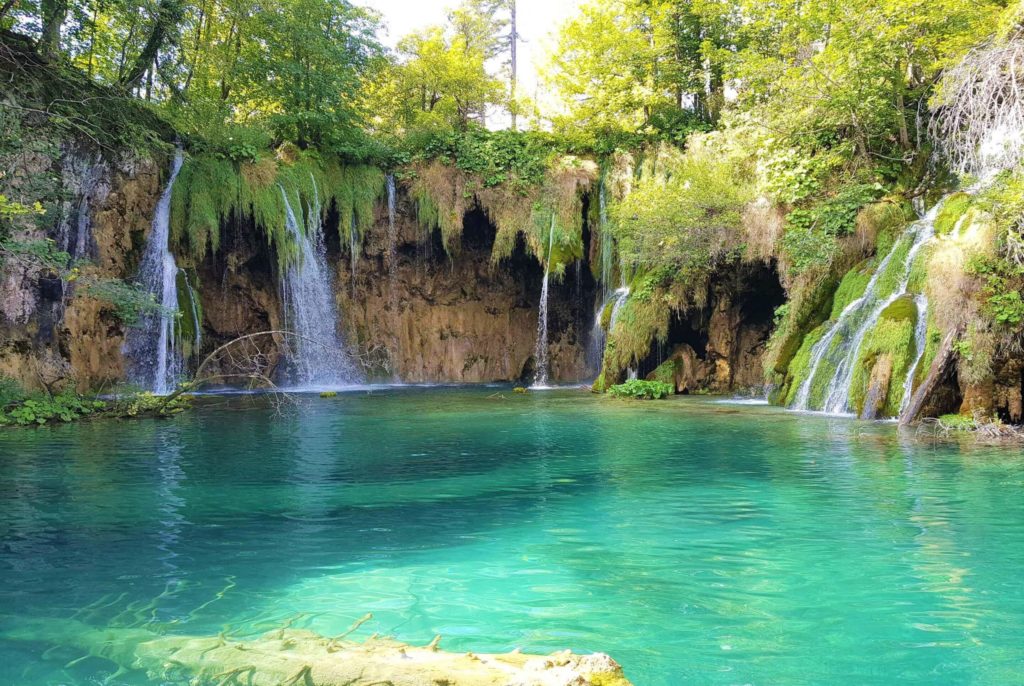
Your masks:
M 489 262 L 494 226 L 466 215 L 461 251 L 450 257 L 399 196 L 395 230 L 386 209 L 358 250 L 355 272 L 337 259 L 336 291 L 347 340 L 382 376 L 409 383 L 524 381 L 532 376 L 543 270 L 519 250 Z M 393 243 L 391 241 L 393 237 Z M 580 333 L 592 282 L 570 271 L 551 289 L 551 378 L 583 381 Z M 584 312 L 588 311 L 585 315 Z

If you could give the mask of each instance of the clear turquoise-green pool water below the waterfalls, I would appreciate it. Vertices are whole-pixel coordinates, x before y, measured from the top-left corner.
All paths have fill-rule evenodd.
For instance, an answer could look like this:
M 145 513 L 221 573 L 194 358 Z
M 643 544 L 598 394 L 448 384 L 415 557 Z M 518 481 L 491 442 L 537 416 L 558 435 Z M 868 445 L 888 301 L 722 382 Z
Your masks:
M 454 650 L 607 651 L 638 685 L 1024 683 L 1019 452 L 494 392 L 0 433 L 0 683 L 114 672 L 3 637 L 28 617 L 335 634 L 368 611 L 364 634 Z

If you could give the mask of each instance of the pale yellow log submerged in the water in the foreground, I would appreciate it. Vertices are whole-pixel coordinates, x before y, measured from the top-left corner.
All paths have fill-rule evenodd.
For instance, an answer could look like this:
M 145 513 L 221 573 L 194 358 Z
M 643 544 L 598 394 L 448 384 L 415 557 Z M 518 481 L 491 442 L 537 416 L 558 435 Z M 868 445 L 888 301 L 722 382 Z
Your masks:
M 19 620 L 5 638 L 89 651 L 119 668 L 174 683 L 247 686 L 631 686 L 608 655 L 513 651 L 453 653 L 439 637 L 415 647 L 387 638 L 362 643 L 281 629 L 249 640 L 161 636 L 139 629 L 100 629 L 75 620 Z

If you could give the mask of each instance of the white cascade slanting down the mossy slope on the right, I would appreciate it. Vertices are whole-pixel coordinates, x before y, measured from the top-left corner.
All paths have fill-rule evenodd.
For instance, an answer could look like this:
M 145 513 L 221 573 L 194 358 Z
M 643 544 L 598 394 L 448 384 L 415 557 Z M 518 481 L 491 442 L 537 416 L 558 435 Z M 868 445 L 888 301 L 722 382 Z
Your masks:
M 933 207 L 928 214 L 907 230 L 883 258 L 874 273 L 871 275 L 863 295 L 847 305 L 840 313 L 836 324 L 825 333 L 821 339 L 811 348 L 810 371 L 807 378 L 797 393 L 794 401 L 795 410 L 812 410 L 810 406 L 811 390 L 815 380 L 822 371 L 822 365 L 826 359 L 836 362 L 834 376 L 825 388 L 820 411 L 829 414 L 845 414 L 849 412 L 850 387 L 853 385 L 853 377 L 856 372 L 856 361 L 860 346 L 864 338 L 878 324 L 882 312 L 885 311 L 897 298 L 906 295 L 907 287 L 910 283 L 910 270 L 913 261 L 921 252 L 922 247 L 935 235 L 935 219 L 942 209 L 942 202 Z M 892 264 L 896 256 L 906 248 L 906 242 L 910 241 L 910 247 L 902 262 Z M 895 270 L 897 277 L 896 286 L 891 292 L 882 291 L 881 285 L 883 276 L 891 270 Z M 924 296 L 919 296 L 923 298 Z M 927 301 L 916 300 L 918 308 L 918 329 L 927 327 Z M 924 323 L 924 324 L 923 324 Z M 915 334 L 916 335 L 916 334 Z M 924 332 L 919 339 L 919 355 L 924 349 Z M 920 356 L 919 356 L 920 360 Z M 914 365 L 915 367 L 916 365 Z M 911 369 L 910 375 L 913 374 Z M 908 382 L 912 385 L 912 376 Z

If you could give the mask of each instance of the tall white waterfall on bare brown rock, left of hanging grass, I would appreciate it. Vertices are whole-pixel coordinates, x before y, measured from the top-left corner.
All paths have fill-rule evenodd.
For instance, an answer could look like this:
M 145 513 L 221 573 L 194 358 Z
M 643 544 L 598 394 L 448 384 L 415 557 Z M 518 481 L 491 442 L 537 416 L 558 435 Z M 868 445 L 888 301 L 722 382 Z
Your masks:
M 183 162 L 184 154 L 179 149 L 174 156 L 167 186 L 157 203 L 138 272 L 139 286 L 154 297 L 160 309 L 143 315 L 139 326 L 129 330 L 123 348 L 129 362 L 129 380 L 161 395 L 174 390 L 183 368 L 174 340 L 178 265 L 169 248 L 171 192 Z

